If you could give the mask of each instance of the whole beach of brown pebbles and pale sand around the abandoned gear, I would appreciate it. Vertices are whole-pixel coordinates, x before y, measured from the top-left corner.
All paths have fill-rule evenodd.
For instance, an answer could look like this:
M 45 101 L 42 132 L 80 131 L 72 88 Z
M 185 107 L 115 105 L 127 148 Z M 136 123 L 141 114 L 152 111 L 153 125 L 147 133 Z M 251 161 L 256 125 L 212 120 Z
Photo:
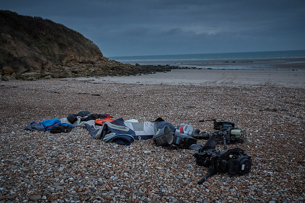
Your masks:
M 0 202 L 305 202 L 305 71 L 185 71 L 0 81 Z M 199 185 L 207 168 L 194 150 L 24 130 L 83 110 L 206 132 L 213 123 L 201 119 L 233 121 L 247 140 L 228 149 L 251 155 L 251 172 Z

